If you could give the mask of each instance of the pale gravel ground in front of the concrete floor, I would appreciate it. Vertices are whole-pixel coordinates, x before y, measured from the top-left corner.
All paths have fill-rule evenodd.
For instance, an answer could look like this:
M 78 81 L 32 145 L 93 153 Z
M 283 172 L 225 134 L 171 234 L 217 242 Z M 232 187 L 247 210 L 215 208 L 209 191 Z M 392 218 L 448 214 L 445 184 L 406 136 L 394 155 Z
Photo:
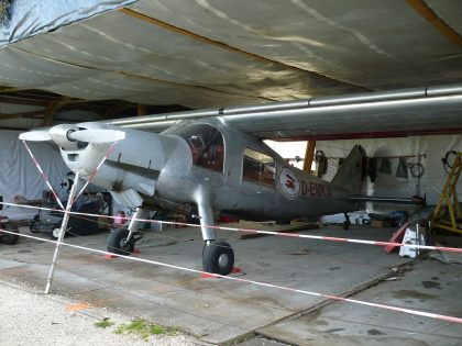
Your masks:
M 0 345 L 198 345 L 189 335 L 116 334 L 132 317 L 105 309 L 78 309 L 78 302 L 63 297 L 33 292 L 32 289 L 0 281 Z M 114 325 L 101 328 L 95 323 L 110 319 Z

